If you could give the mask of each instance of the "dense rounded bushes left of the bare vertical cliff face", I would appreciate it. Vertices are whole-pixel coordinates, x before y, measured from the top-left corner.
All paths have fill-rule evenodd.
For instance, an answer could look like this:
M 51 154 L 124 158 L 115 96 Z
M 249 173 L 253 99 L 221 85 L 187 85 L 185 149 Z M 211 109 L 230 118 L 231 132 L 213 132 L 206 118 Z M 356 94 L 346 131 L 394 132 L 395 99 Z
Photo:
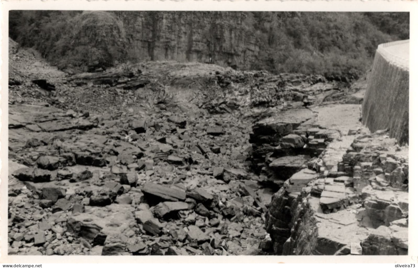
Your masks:
M 21 25 L 14 19 L 14 25 L 18 26 L 16 30 L 10 29 L 10 36 L 17 38 L 22 46 L 34 46 L 59 68 L 108 67 L 125 59 L 123 25 L 112 13 L 34 11 L 29 14 L 20 18 Z

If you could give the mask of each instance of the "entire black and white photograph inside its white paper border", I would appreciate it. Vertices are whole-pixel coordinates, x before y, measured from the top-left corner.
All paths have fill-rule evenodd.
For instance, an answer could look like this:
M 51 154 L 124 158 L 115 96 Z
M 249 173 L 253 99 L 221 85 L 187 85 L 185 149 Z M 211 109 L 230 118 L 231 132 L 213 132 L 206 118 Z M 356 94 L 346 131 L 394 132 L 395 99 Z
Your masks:
M 409 39 L 409 12 L 10 10 L 7 255 L 408 255 Z

